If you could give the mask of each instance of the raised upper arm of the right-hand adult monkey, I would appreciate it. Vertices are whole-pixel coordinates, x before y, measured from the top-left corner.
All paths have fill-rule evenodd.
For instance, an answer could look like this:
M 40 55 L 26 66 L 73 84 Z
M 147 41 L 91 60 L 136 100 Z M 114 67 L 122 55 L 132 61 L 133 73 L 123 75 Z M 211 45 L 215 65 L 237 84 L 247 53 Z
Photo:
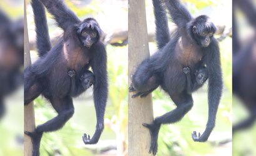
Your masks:
M 170 12 L 172 21 L 178 27 L 186 27 L 187 22 L 191 21 L 192 16 L 189 11 L 180 3 L 179 0 L 166 0 L 167 9 Z

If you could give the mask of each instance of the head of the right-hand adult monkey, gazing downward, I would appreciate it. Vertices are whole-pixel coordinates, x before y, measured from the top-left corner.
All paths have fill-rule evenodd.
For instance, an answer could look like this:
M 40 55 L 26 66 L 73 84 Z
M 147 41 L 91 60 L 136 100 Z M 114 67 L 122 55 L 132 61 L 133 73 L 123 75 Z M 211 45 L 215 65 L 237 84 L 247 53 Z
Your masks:
M 209 20 L 208 16 L 201 15 L 196 17 L 187 25 L 188 31 L 192 39 L 197 42 L 197 44 L 201 47 L 208 47 L 214 33 L 216 31 L 216 27 L 214 23 Z

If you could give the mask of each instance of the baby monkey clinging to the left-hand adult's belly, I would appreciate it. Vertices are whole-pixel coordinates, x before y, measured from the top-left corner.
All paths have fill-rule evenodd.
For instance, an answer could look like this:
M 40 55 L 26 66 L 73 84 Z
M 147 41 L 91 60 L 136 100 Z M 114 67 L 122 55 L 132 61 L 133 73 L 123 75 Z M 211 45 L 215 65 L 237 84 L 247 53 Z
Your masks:
M 79 81 L 77 83 L 76 81 L 76 72 L 75 71 L 69 71 L 69 76 L 71 77 L 71 91 L 70 94 L 72 97 L 76 97 L 77 95 L 80 95 L 85 90 L 89 89 L 92 84 L 94 84 L 94 74 L 86 70 L 79 78 Z

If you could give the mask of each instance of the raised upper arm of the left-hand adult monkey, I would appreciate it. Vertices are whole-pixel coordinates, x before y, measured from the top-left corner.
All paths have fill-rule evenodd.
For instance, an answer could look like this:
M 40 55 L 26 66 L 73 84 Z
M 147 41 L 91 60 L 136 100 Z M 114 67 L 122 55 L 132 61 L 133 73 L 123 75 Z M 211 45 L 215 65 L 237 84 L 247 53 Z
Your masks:
M 49 11 L 56 19 L 59 26 L 66 30 L 70 26 L 74 26 L 80 22 L 76 14 L 72 12 L 61 0 L 40 0 L 47 11 Z

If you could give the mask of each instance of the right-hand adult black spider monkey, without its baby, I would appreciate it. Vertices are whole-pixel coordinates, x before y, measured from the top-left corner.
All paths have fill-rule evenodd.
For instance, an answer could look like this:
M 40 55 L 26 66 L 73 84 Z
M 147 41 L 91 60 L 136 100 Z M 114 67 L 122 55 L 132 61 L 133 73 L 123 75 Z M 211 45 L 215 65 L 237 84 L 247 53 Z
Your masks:
M 193 106 L 182 69 L 189 67 L 194 71 L 195 65 L 202 61 L 209 74 L 209 118 L 202 135 L 193 132 L 192 139 L 195 142 L 205 142 L 214 129 L 222 95 L 222 71 L 219 46 L 213 37 L 216 28 L 209 17 L 202 15 L 192 18 L 179 1 L 165 2 L 172 21 L 177 24 L 177 31 L 170 37 L 164 5 L 160 0 L 153 0 L 153 4 L 159 51 L 137 67 L 129 90 L 147 92 L 160 85 L 177 105 L 176 109 L 156 117 L 152 124 L 143 124 L 150 130 L 149 152 L 155 155 L 160 125 L 179 121 Z

